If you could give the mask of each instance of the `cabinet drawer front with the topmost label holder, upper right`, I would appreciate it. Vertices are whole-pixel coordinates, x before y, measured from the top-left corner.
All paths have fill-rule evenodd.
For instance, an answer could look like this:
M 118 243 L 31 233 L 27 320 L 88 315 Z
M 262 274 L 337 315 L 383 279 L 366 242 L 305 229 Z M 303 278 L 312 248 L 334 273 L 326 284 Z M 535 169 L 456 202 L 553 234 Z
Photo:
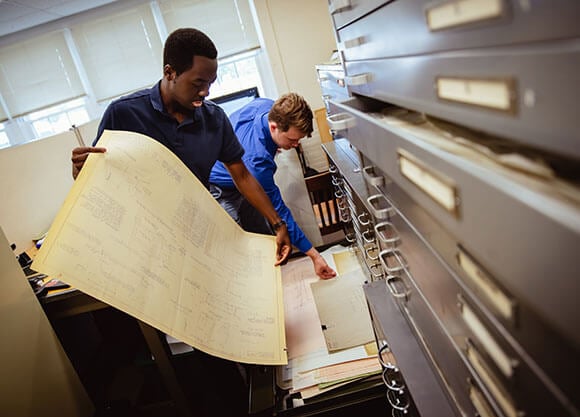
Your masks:
M 580 36 L 577 1 L 536 2 L 533 7 L 505 0 L 456 3 L 463 3 L 464 7 L 473 4 L 479 9 L 467 21 L 461 17 L 467 16 L 469 10 L 442 11 L 448 15 L 443 22 L 443 18 L 434 16 L 441 16 L 437 7 L 445 2 L 395 1 L 340 29 L 338 47 L 346 61 L 354 61 Z M 482 7 L 485 4 L 487 8 Z M 453 24 L 453 19 L 457 24 Z

